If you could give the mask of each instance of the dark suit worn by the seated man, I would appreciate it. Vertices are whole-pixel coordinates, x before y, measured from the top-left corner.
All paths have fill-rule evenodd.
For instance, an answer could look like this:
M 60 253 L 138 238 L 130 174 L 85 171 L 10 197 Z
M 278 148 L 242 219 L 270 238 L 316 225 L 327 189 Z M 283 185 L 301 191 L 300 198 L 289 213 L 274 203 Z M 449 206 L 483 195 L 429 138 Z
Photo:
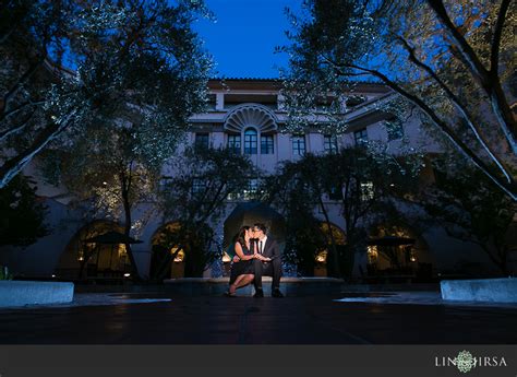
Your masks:
M 258 250 L 258 240 L 255 241 L 254 247 Z M 260 250 L 258 250 L 260 252 Z M 281 276 L 281 259 L 280 259 L 280 248 L 278 243 L 270 236 L 267 236 L 266 244 L 263 247 L 262 255 L 266 258 L 272 258 L 270 262 L 263 262 L 258 259 L 253 260 L 253 267 L 255 272 L 255 291 L 262 290 L 262 276 L 272 276 L 272 292 L 280 287 L 280 276 Z

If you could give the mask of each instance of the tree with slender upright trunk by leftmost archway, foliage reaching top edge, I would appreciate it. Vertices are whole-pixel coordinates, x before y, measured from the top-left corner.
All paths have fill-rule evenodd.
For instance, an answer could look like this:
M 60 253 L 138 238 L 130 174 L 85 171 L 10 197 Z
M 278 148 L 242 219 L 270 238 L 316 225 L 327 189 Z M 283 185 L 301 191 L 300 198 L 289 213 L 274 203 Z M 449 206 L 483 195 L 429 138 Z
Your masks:
M 153 196 L 189 117 L 204 108 L 211 62 L 191 30 L 201 2 L 103 4 L 75 20 L 81 34 L 71 39 L 71 48 L 82 59 L 77 102 L 57 117 L 81 123 L 53 136 L 49 154 L 55 169 L 46 172 L 115 217 L 122 210 L 130 236 L 132 210 Z M 57 106 L 69 104 L 60 89 L 57 93 Z M 136 269 L 131 245 L 125 248 Z

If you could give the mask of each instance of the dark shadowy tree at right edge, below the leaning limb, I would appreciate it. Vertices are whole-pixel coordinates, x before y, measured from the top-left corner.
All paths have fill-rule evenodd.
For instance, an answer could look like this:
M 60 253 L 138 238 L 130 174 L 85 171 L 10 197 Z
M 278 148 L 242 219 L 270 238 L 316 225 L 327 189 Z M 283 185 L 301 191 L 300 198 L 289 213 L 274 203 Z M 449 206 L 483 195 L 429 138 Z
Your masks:
M 436 158 L 433 165 L 436 180 L 418 199 L 431 221 L 449 236 L 478 245 L 508 275 L 507 257 L 516 246 L 509 238 L 516 225 L 515 202 L 466 164 L 450 166 L 446 158 Z

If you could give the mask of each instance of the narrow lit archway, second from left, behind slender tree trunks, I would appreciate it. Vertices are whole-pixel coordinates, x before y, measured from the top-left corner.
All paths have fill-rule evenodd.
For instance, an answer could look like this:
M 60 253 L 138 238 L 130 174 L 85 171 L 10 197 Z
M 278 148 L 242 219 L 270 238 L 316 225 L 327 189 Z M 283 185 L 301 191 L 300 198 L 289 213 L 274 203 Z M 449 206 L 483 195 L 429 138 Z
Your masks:
M 149 275 L 152 279 L 178 279 L 184 276 L 184 250 L 176 245 L 176 235 L 181 231 L 179 222 L 161 226 L 151 239 L 153 256 Z

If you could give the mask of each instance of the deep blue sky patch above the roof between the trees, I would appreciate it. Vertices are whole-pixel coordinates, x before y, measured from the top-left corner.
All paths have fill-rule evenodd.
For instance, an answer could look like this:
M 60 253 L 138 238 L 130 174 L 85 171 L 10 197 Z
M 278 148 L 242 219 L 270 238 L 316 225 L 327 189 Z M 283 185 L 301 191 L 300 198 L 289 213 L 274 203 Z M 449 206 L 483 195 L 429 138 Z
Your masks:
M 302 0 L 205 0 L 217 21 L 202 20 L 194 27 L 214 56 L 216 73 L 225 78 L 277 78 L 286 54 L 289 27 L 284 9 L 298 10 Z

